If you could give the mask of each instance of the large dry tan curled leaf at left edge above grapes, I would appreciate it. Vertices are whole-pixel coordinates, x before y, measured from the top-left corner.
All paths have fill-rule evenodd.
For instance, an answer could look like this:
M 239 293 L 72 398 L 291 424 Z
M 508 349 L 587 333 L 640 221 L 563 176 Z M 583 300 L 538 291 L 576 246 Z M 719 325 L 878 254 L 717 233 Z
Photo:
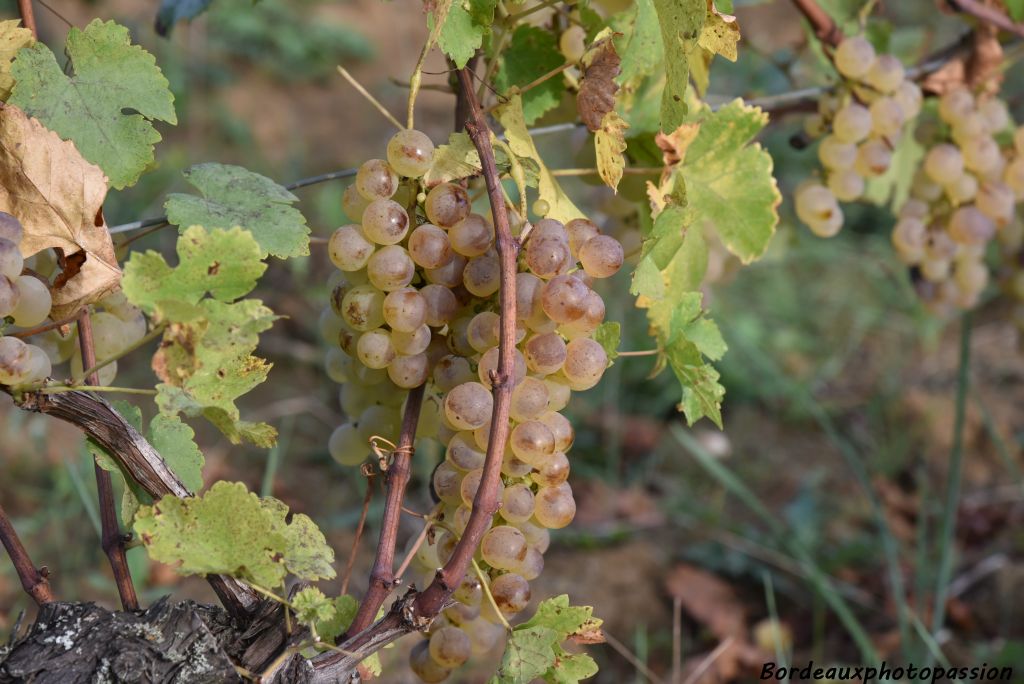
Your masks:
M 16 106 L 0 109 L 0 211 L 25 226 L 22 253 L 84 253 L 79 271 L 53 290 L 54 318 L 71 315 L 121 282 L 103 220 L 106 178 L 71 142 Z

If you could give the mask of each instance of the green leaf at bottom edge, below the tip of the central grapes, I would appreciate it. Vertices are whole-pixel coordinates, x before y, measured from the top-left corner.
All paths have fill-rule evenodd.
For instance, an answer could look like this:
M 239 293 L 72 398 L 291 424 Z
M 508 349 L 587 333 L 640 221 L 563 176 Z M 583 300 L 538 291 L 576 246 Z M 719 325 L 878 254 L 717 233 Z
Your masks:
M 593 635 L 601 621 L 590 606 L 569 605 L 565 594 L 541 602 L 528 621 L 516 627 L 505 646 L 505 654 L 490 684 L 528 684 L 545 681 L 575 683 L 597 673 L 588 655 L 566 653 L 561 642 L 573 635 Z

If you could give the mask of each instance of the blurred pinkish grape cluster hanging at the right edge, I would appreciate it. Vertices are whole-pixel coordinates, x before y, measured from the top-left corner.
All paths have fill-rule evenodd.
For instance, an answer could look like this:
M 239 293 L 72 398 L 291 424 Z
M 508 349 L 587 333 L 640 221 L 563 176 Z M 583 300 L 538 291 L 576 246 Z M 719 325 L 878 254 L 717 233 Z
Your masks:
M 1002 100 L 955 89 L 939 99 L 938 113 L 942 134 L 899 209 L 892 242 L 914 268 L 925 303 L 948 312 L 978 303 L 990 280 L 988 244 L 1000 234 L 1014 242 L 1019 233 L 1007 226 L 1024 199 L 1024 129 L 1012 135 L 1015 148 L 1005 155 L 996 136 L 1010 136 L 1013 122 Z

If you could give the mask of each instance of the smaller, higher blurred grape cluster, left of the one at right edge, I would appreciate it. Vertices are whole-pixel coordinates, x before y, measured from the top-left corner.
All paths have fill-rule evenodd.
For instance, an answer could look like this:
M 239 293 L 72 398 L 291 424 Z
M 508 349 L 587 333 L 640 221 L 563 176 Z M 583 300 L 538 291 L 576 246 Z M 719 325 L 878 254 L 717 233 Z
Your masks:
M 804 125 L 808 135 L 820 137 L 823 178 L 796 193 L 797 216 L 821 238 L 843 227 L 840 202 L 860 199 L 866 180 L 889 170 L 904 124 L 922 109 L 921 88 L 906 79 L 900 60 L 876 54 L 864 37 L 843 40 L 833 60 L 843 80 Z

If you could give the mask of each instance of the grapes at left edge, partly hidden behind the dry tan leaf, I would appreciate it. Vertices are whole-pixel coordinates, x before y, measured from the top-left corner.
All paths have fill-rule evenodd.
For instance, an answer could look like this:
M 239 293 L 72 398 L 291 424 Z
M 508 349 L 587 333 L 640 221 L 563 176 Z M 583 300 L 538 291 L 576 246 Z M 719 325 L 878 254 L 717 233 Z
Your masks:
M 0 212 L 0 319 L 6 318 L 17 329 L 29 329 L 45 323 L 50 315 L 49 279 L 56 271 L 57 261 L 52 250 L 24 259 L 18 247 L 23 233 L 16 218 Z M 94 305 L 90 317 L 96 358 L 100 360 L 127 349 L 146 333 L 145 315 L 120 291 Z M 34 335 L 32 344 L 16 337 L 0 338 L 0 384 L 38 384 L 52 375 L 54 366 L 69 360 L 71 375 L 80 378 L 84 369 L 74 323 L 63 331 L 54 328 Z M 117 370 L 117 361 L 101 368 L 100 384 L 111 384 Z

